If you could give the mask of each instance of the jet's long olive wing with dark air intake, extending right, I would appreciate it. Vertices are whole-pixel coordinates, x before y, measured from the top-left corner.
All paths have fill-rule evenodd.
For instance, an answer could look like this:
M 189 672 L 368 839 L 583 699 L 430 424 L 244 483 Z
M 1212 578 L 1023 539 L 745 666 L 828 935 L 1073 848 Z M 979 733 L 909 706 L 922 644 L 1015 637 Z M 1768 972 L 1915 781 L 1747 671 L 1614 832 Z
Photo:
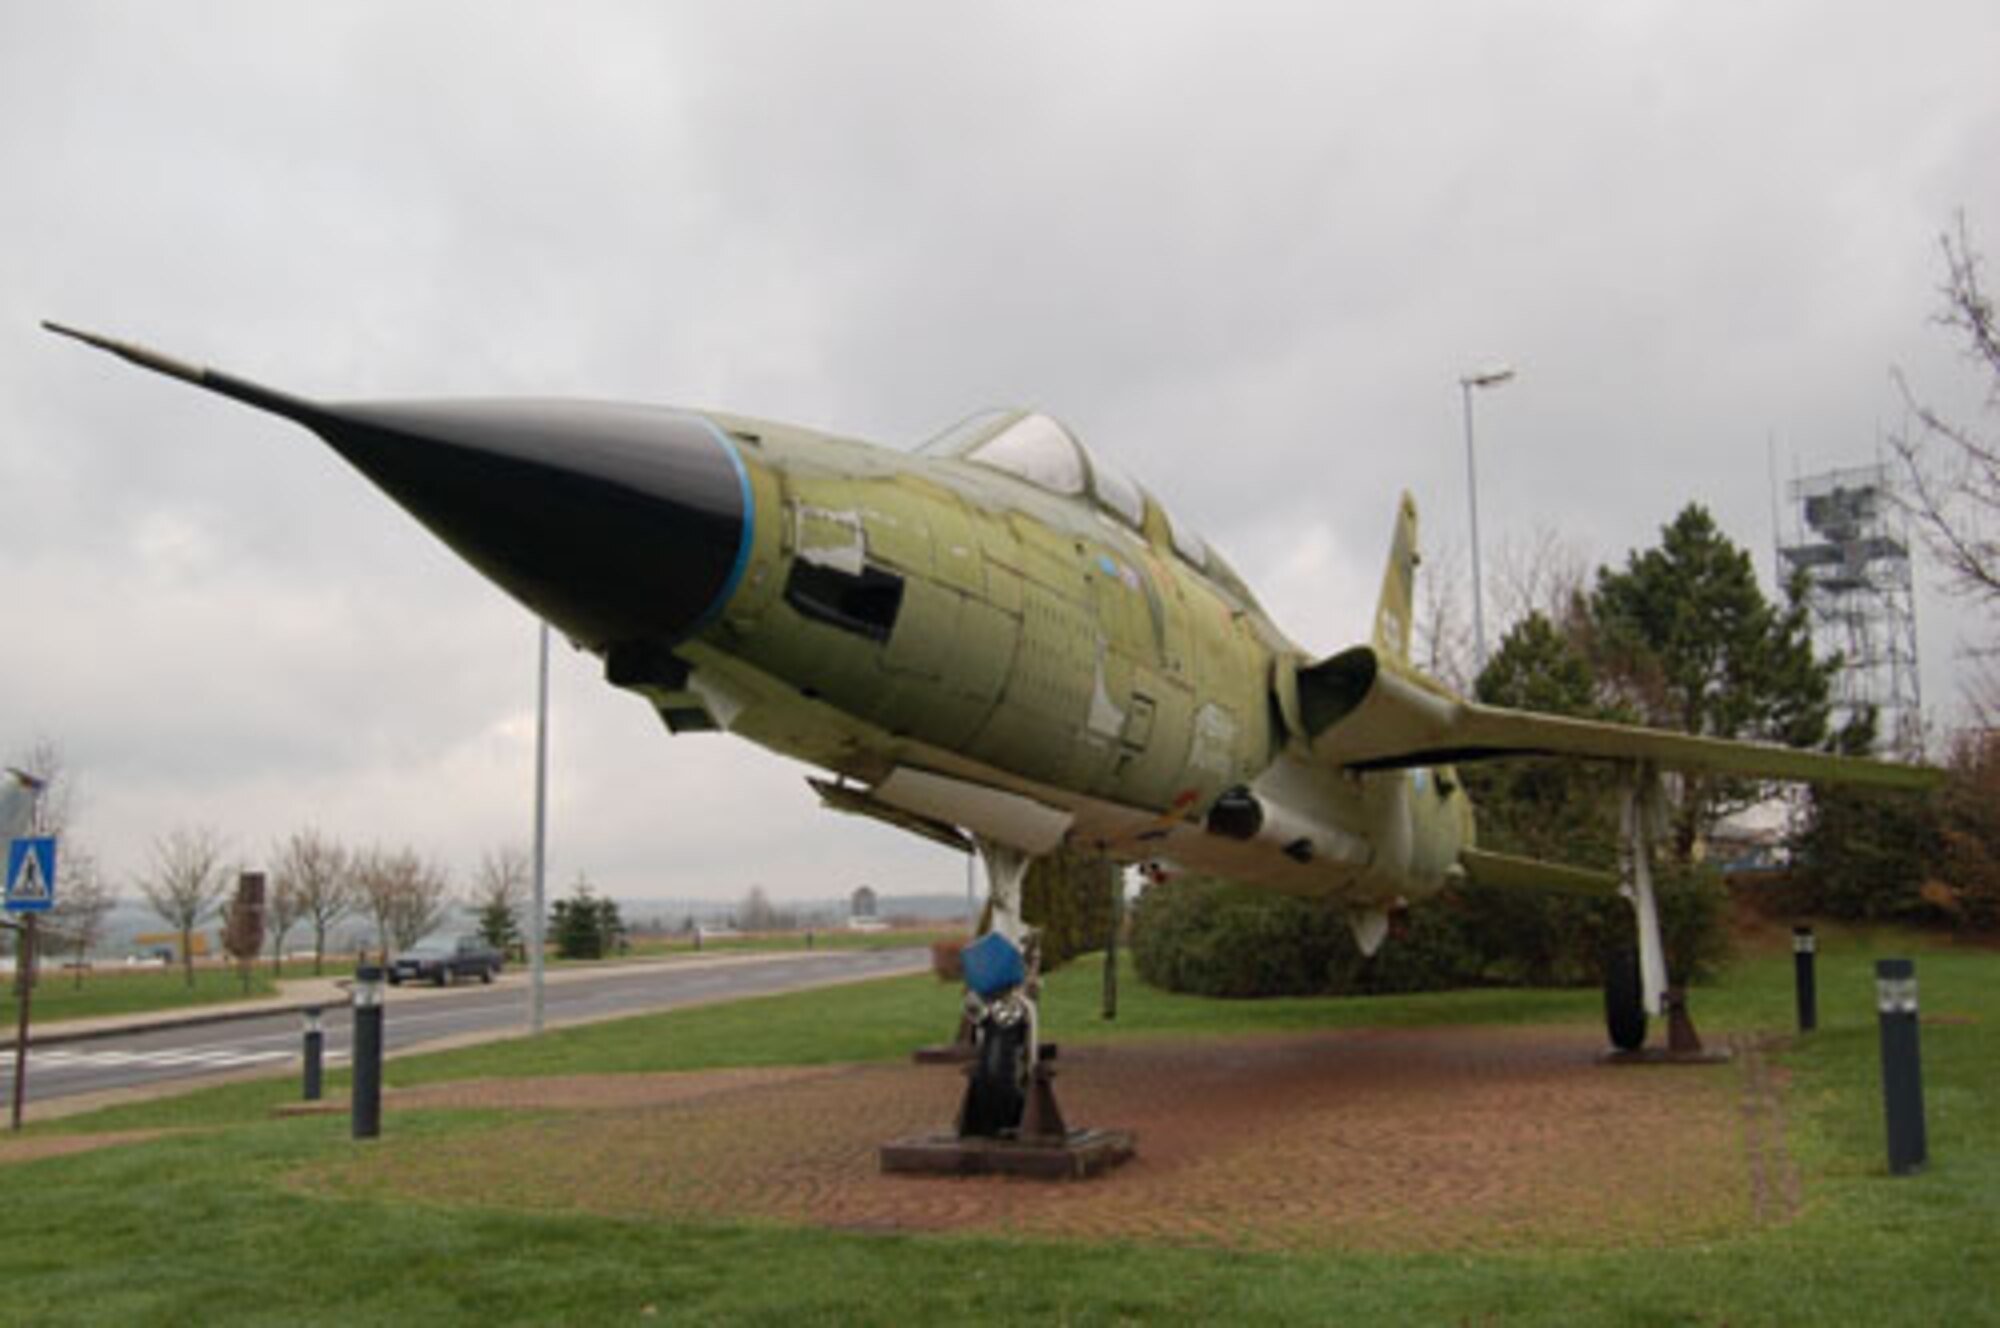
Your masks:
M 1496 756 L 1650 762 L 1754 780 L 1936 788 L 1942 772 L 1774 742 L 1482 706 L 1356 646 L 1298 672 L 1298 716 L 1314 754 L 1346 770 L 1400 770 Z

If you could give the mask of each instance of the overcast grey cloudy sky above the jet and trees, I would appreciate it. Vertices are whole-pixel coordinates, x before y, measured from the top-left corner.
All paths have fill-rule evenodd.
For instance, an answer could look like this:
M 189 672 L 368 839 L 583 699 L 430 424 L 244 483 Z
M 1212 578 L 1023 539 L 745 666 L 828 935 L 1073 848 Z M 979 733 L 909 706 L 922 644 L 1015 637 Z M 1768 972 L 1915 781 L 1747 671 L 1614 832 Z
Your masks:
M 1890 368 L 1970 412 L 1938 232 L 2000 254 L 2000 8 L 0 0 L 0 748 L 128 882 L 206 822 L 470 874 L 530 830 L 534 626 L 302 430 L 60 318 L 318 396 L 598 396 L 910 444 L 1042 406 L 1314 650 L 1390 516 L 1488 570 L 1688 500 L 1768 576 Z M 1452 566 L 1450 556 L 1432 566 Z M 1928 578 L 1926 578 L 1928 580 Z M 1926 588 L 1926 702 L 1978 624 Z M 554 662 L 552 882 L 958 890 L 802 768 Z

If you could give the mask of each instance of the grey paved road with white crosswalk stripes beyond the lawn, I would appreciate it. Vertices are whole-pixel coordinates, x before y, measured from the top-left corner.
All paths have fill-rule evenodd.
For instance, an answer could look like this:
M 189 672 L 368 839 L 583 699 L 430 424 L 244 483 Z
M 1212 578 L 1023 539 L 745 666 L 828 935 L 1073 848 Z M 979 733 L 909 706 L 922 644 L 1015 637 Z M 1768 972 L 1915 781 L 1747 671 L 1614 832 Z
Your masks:
M 562 980 L 546 984 L 544 1010 L 550 1024 L 672 1010 L 866 976 L 918 972 L 928 966 L 928 958 L 924 950 L 828 950 L 712 966 L 652 964 L 588 976 L 562 974 Z M 528 1024 L 526 974 L 510 974 L 496 986 L 464 986 L 450 992 L 386 990 L 384 1032 L 390 1052 L 468 1034 L 518 1034 Z M 324 1028 L 328 1066 L 346 1064 L 352 1014 L 338 1006 L 330 1008 Z M 246 1014 L 226 1024 L 194 1028 L 134 1030 L 46 1048 L 30 1046 L 26 1100 L 52 1102 L 252 1066 L 296 1064 L 300 1050 L 300 1016 L 290 1012 Z M 8 1050 L 0 1056 L 0 1094 L 12 1092 L 12 1082 L 14 1052 Z

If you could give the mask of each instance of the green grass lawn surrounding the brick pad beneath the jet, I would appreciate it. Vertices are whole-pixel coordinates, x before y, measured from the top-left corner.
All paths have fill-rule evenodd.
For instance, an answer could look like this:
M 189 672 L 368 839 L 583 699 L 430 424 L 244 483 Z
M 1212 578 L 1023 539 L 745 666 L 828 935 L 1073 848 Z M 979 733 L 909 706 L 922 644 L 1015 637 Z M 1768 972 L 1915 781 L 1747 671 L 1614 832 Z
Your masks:
M 1884 1174 L 1870 964 L 1914 954 L 1930 1168 Z M 1790 1028 L 1788 952 L 1696 994 L 1704 1032 Z M 380 1202 L 284 1178 L 356 1148 L 344 1118 L 270 1120 L 292 1082 L 126 1106 L 78 1128 L 218 1126 L 6 1168 L 6 1322 L 2000 1322 L 2000 954 L 1894 934 L 1822 938 L 1822 1028 L 1780 1056 L 1804 1208 L 1732 1240 L 1578 1252 L 1244 1254 L 970 1236 L 664 1224 Z M 1130 976 L 1096 1018 L 1096 964 L 1050 982 L 1054 1036 L 1228 1036 L 1352 1024 L 1592 1018 L 1592 992 L 1214 1002 Z M 954 998 L 898 978 L 392 1062 L 392 1084 L 904 1056 Z M 1732 1074 L 1722 1070 L 1720 1074 Z M 398 1136 L 492 1116 L 392 1116 Z M 588 1126 L 580 1126 L 588 1128 Z M 954 1184 L 954 1182 L 940 1182 Z M 1114 1184 L 1114 1182 L 1112 1182 Z

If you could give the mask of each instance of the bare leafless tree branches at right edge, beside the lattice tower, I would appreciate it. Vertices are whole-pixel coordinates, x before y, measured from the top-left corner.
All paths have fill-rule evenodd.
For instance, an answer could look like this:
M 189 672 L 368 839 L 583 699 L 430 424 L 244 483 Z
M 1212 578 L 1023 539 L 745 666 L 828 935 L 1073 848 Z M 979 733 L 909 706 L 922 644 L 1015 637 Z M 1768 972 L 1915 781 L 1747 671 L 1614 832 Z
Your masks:
M 1986 410 L 2000 410 L 2000 326 L 1980 284 L 1980 256 L 1958 216 L 1956 234 L 1944 232 L 1944 308 L 1938 322 L 1964 338 L 1966 356 L 1986 378 Z M 1890 438 L 1910 480 L 1908 506 L 1924 542 L 1944 564 L 1948 586 L 1960 594 L 2000 604 L 2000 434 L 1982 434 L 1948 420 L 1918 400 L 1898 370 L 1896 388 L 1912 424 Z

